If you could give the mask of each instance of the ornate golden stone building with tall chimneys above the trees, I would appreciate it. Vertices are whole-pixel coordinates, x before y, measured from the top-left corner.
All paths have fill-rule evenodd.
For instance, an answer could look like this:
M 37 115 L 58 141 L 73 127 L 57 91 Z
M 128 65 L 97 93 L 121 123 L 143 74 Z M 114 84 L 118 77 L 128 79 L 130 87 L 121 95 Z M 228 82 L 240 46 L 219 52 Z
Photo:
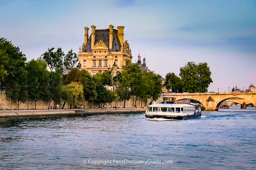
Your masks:
M 92 76 L 109 69 L 116 73 L 126 61 L 132 61 L 132 50 L 127 40 L 124 41 L 124 26 L 117 26 L 117 30 L 112 25 L 108 29 L 96 30 L 93 25 L 91 28 L 88 38 L 89 28 L 84 27 L 84 43 L 78 52 L 81 70 L 87 70 Z

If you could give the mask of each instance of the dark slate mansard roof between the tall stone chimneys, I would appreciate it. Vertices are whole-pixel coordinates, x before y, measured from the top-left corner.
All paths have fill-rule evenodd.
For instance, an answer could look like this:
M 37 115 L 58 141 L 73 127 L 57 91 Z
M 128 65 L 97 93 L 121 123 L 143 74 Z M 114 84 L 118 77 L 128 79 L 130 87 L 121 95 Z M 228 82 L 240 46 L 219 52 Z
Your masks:
M 94 44 L 102 40 L 109 49 L 109 29 L 103 29 L 103 30 L 95 30 L 95 41 Z M 113 29 L 113 43 L 112 43 L 112 49 L 109 49 L 109 51 L 120 51 L 121 49 L 121 43 L 119 41 L 119 38 L 117 36 L 117 30 Z M 87 44 L 85 45 L 83 52 L 92 52 L 92 35 L 90 35 Z

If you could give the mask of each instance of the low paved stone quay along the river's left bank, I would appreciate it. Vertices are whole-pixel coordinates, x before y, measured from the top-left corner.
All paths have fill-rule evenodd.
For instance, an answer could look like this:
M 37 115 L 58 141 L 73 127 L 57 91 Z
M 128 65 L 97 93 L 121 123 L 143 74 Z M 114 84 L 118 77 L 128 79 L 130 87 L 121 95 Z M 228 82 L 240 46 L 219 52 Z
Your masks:
M 143 112 L 147 108 L 107 108 L 107 109 L 59 109 L 59 110 L 1 110 L 1 117 L 20 117 L 20 116 L 47 116 L 47 115 L 76 115 L 76 114 L 105 114 L 120 112 Z

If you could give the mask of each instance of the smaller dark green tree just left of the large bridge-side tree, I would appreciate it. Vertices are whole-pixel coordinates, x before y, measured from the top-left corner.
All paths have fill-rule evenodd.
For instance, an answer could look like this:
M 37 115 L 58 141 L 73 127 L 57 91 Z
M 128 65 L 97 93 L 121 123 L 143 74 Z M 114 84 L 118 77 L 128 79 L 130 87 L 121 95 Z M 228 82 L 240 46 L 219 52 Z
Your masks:
M 177 92 L 177 90 L 179 92 L 182 91 L 181 80 L 178 76 L 175 75 L 175 73 L 169 72 L 166 74 L 164 86 L 167 89 L 172 89 L 172 92 Z

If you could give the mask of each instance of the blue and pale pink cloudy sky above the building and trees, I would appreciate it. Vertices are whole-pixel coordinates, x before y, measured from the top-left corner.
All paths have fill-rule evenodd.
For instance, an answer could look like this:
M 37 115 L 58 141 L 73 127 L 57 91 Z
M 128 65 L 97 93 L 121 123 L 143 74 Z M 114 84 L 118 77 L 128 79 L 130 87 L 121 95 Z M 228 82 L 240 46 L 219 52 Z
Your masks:
M 84 27 L 124 26 L 124 40 L 163 78 L 188 62 L 208 63 L 208 92 L 256 86 L 256 1 L 0 0 L 0 37 L 27 60 L 48 48 L 78 53 Z

